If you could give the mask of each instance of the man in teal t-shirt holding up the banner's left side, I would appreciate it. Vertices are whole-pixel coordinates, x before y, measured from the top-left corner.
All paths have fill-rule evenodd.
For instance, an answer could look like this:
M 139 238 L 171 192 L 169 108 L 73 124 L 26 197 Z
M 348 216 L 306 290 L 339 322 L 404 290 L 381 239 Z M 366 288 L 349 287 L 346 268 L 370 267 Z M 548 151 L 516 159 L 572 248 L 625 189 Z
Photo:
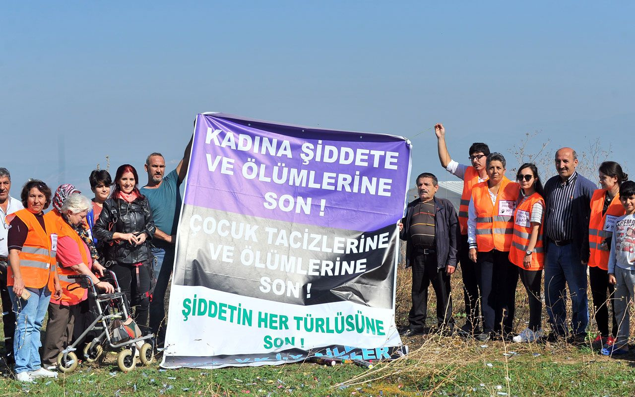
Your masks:
M 183 158 L 177 168 L 165 177 L 165 159 L 159 152 L 150 153 L 145 159 L 144 169 L 148 174 L 148 183 L 140 189 L 148 199 L 152 217 L 156 225 L 154 234 L 155 257 L 154 274 L 157 278 L 152 302 L 150 302 L 150 328 L 157 340 L 157 347 L 163 347 L 165 337 L 165 293 L 174 266 L 175 244 L 177 242 L 178 216 L 181 211 L 180 185 L 187 175 L 192 140 L 185 147 Z M 163 266 L 165 264 L 165 266 Z

